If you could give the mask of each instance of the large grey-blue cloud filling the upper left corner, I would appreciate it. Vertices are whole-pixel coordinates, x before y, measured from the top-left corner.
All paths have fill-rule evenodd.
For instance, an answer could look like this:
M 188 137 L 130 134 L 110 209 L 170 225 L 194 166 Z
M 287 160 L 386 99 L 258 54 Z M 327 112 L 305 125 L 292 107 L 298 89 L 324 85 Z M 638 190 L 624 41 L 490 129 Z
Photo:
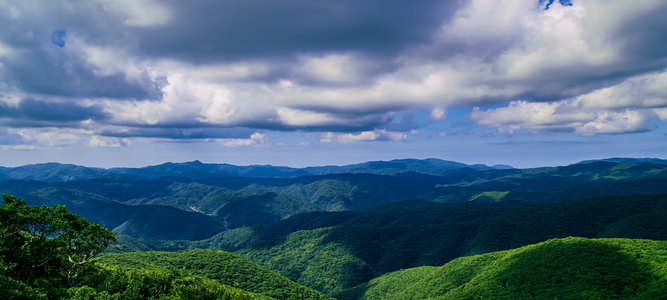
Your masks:
M 95 47 L 115 49 L 130 61 L 137 55 L 127 55 L 132 39 L 123 36 L 119 19 L 104 3 L 3 1 L 0 11 L 0 45 L 6 53 L 0 55 L 0 80 L 14 92 L 33 97 L 160 98 L 145 68 L 126 65 L 106 72 L 89 60 L 88 50 Z

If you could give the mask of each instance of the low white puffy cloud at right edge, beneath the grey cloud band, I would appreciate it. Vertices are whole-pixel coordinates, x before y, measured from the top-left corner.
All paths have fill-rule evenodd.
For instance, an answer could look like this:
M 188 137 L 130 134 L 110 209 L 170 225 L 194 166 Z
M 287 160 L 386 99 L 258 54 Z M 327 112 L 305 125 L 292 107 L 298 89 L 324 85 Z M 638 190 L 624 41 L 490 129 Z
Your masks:
M 617 85 L 554 102 L 513 101 L 506 107 L 474 108 L 470 119 L 501 133 L 632 133 L 667 107 L 667 71 L 631 77 Z

